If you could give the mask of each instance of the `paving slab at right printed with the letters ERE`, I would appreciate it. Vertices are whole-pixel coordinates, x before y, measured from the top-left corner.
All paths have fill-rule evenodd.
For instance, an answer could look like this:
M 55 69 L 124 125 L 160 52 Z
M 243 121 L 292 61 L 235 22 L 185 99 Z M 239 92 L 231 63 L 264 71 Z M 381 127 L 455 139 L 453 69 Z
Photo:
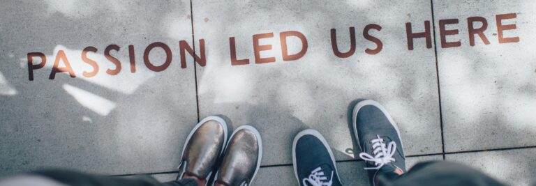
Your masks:
M 535 1 L 433 1 L 445 151 L 536 145 L 535 8 Z M 470 45 L 469 17 L 486 20 L 489 45 L 478 33 Z M 459 24 L 445 30 L 459 34 L 445 42 L 459 47 L 440 46 L 439 22 L 449 19 Z

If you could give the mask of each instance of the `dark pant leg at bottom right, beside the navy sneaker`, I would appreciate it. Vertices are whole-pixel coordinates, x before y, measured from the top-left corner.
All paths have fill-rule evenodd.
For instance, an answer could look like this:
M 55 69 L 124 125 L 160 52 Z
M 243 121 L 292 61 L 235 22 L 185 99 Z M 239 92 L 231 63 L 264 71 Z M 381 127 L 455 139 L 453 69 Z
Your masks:
M 381 186 L 474 185 L 502 186 L 484 173 L 453 162 L 422 162 L 398 178 L 380 175 Z

